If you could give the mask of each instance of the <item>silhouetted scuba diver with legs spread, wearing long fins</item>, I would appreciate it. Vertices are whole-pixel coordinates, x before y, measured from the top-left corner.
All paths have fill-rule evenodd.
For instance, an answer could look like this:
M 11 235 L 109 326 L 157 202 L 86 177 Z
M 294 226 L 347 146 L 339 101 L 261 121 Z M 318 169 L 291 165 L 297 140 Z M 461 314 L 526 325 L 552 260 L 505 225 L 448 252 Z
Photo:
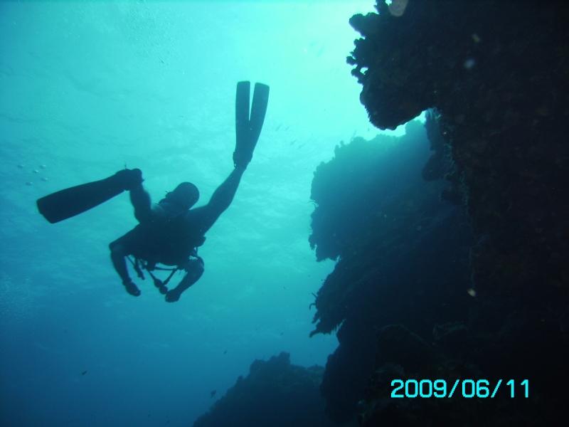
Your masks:
M 250 82 L 239 82 L 235 97 L 235 169 L 213 192 L 205 206 L 193 208 L 199 199 L 199 191 L 190 182 L 182 182 L 152 206 L 150 196 L 142 186 L 140 169 L 123 169 L 106 179 L 38 199 L 40 213 L 50 223 L 56 223 L 92 209 L 122 191 L 129 191 L 134 216 L 139 224 L 110 243 L 112 265 L 130 295 L 139 296 L 141 292 L 130 278 L 127 260 L 132 263 L 139 278 L 144 279 L 142 270 L 147 270 L 156 288 L 166 295 L 166 302 L 178 301 L 181 293 L 201 278 L 204 263 L 198 255 L 198 247 L 203 245 L 206 232 L 233 201 L 259 139 L 267 111 L 269 87 L 262 83 L 255 84 L 250 114 L 249 96 Z M 161 268 L 158 264 L 171 268 Z M 171 273 L 162 281 L 156 278 L 153 270 L 171 270 Z M 184 270 L 184 277 L 175 288 L 169 290 L 166 285 L 178 270 Z

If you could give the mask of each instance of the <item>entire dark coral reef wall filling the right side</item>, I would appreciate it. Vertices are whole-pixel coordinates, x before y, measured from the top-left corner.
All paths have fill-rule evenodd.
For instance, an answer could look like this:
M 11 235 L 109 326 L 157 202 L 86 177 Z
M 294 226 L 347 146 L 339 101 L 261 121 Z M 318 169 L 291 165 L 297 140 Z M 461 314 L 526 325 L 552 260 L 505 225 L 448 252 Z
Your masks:
M 416 171 L 429 181 L 396 194 L 413 162 L 369 172 L 408 156 L 396 149 L 354 142 L 315 174 L 310 243 L 338 260 L 315 302 L 314 332 L 338 328 L 340 342 L 321 386 L 327 411 L 359 413 L 363 426 L 553 423 L 569 380 L 569 6 L 395 0 L 378 12 L 350 21 L 361 101 L 381 129 L 433 109 L 434 152 Z M 527 399 L 395 401 L 395 377 L 532 388 Z

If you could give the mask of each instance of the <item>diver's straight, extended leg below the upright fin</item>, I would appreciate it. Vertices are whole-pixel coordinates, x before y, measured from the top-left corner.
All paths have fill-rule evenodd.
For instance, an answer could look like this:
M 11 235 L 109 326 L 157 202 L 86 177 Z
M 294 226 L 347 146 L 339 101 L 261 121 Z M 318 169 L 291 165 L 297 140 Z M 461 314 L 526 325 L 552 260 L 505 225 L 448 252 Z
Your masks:
M 188 221 L 195 224 L 202 234 L 206 233 L 213 226 L 225 209 L 228 209 L 237 192 L 243 172 L 245 172 L 245 167 L 233 169 L 233 172 L 229 174 L 227 179 L 213 192 L 206 206 L 201 206 L 188 212 Z

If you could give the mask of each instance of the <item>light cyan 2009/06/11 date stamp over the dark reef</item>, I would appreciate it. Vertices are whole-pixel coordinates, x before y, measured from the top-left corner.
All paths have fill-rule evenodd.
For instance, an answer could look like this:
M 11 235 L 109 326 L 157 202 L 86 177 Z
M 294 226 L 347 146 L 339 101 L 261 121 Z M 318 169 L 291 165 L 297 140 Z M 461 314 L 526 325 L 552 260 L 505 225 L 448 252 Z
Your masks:
M 452 396 L 462 396 L 465 399 L 493 399 L 500 389 L 503 393 L 509 393 L 509 397 L 529 397 L 529 380 L 523 379 L 516 382 L 514 379 L 505 381 L 499 379 L 491 381 L 487 379 L 457 379 L 453 383 L 448 383 L 445 379 L 393 379 L 391 381 L 393 399 L 402 398 L 451 398 Z

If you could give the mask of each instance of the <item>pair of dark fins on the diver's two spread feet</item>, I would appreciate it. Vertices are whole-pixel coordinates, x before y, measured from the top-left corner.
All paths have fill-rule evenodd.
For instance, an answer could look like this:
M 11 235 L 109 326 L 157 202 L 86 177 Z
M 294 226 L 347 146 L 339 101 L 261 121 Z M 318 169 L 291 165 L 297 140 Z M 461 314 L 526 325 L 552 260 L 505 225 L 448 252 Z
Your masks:
M 235 152 L 233 162 L 247 164 L 261 133 L 265 121 L 269 86 L 255 83 L 251 112 L 249 113 L 250 82 L 237 83 L 235 96 Z M 100 181 L 87 182 L 68 189 L 48 194 L 36 202 L 38 210 L 50 223 L 57 223 L 82 214 L 124 191 L 122 174 L 115 174 Z

